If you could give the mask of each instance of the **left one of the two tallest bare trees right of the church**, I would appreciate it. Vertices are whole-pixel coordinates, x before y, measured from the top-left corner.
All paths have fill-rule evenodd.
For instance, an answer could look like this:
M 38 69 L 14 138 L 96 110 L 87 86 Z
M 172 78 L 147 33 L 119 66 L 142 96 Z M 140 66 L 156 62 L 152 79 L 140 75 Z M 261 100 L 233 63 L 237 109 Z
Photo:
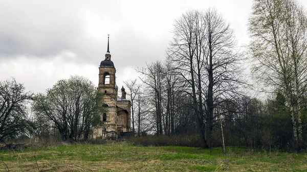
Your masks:
M 173 62 L 173 73 L 180 75 L 184 79 L 188 88 L 186 93 L 192 97 L 191 105 L 200 134 L 200 143 L 202 147 L 205 147 L 202 83 L 199 81 L 202 78 L 200 73 L 204 64 L 201 59 L 203 56 L 199 56 L 200 54 L 202 55 L 203 51 L 199 51 L 199 48 L 205 45 L 203 42 L 205 23 L 202 22 L 201 18 L 201 12 L 188 11 L 175 21 L 174 36 L 167 53 L 169 60 Z M 201 76 L 198 76 L 198 74 Z M 199 94 L 199 102 L 196 93 Z

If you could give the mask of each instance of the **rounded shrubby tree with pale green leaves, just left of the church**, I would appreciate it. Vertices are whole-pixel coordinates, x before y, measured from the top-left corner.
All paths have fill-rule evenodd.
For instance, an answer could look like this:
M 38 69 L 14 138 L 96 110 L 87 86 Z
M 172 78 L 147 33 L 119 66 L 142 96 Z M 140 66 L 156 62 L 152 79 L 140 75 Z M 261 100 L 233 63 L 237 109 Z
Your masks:
M 46 94 L 37 94 L 32 108 L 37 120 L 52 121 L 49 125 L 54 125 L 63 140 L 87 140 L 93 127 L 101 124 L 102 98 L 92 82 L 74 76 L 59 80 Z

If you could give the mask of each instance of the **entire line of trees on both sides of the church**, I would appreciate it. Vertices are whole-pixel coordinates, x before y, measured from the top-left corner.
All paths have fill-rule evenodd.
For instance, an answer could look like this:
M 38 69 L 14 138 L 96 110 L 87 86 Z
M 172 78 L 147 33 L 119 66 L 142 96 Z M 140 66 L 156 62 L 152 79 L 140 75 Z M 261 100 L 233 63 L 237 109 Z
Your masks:
M 202 148 L 305 148 L 304 7 L 295 0 L 254 0 L 251 41 L 244 52 L 230 23 L 215 9 L 183 13 L 174 20 L 172 34 L 165 60 L 137 68 L 140 77 L 125 81 L 136 136 L 195 135 Z M 97 99 L 103 96 L 83 77 L 60 80 L 36 95 L 14 79 L 1 81 L 0 88 L 0 140 L 55 129 L 63 140 L 86 140 L 101 125 L 104 109 Z M 259 89 L 265 99 L 250 96 Z

